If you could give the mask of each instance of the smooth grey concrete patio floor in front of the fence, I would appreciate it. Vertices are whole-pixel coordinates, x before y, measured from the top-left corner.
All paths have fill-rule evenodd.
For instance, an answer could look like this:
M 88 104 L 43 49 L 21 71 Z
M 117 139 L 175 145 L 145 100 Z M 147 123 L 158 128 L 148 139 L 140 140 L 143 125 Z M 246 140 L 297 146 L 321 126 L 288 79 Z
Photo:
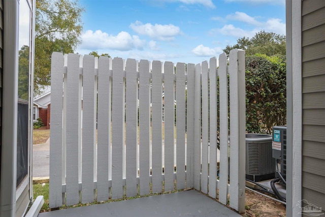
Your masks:
M 232 216 L 237 212 L 195 191 L 155 195 L 111 203 L 42 212 L 39 217 L 77 216 Z

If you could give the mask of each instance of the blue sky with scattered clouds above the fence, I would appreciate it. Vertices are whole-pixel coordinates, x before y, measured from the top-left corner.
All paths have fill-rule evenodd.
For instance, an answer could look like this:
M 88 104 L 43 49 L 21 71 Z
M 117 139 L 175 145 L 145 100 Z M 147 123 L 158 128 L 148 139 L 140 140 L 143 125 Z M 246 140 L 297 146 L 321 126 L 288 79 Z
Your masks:
M 260 30 L 285 35 L 284 0 L 79 0 L 76 52 L 201 63 Z

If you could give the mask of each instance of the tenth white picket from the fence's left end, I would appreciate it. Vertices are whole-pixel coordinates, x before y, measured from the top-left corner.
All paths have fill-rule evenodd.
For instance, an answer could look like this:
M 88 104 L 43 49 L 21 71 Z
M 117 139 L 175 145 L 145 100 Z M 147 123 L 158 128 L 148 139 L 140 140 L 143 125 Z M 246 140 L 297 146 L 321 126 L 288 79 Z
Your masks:
M 185 64 L 176 65 L 176 175 L 177 189 L 185 188 Z

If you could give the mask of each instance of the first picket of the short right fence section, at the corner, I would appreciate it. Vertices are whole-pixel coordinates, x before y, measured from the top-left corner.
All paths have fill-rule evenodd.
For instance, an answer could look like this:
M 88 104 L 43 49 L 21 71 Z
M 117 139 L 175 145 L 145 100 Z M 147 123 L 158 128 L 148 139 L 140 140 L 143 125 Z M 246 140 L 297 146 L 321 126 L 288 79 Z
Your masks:
M 195 67 L 194 90 L 194 188 L 200 189 L 201 178 L 201 65 Z

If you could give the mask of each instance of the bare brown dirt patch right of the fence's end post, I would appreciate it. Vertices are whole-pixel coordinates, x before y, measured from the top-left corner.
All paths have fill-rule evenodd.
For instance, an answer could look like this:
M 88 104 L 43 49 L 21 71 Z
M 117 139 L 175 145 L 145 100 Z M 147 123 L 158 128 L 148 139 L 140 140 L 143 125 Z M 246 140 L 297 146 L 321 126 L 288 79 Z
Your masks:
M 279 217 L 286 216 L 285 206 L 262 195 L 246 190 L 245 217 Z

